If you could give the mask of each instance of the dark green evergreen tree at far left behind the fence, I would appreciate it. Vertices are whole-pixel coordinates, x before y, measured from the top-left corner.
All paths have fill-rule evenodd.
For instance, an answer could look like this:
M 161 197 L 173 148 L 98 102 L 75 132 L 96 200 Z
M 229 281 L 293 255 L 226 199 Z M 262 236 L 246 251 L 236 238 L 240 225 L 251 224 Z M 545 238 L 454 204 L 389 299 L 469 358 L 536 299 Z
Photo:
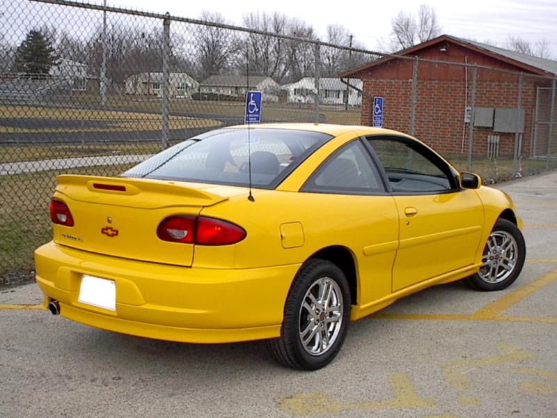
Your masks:
M 24 72 L 29 76 L 47 75 L 58 58 L 52 41 L 41 31 L 31 30 L 17 47 L 14 71 Z

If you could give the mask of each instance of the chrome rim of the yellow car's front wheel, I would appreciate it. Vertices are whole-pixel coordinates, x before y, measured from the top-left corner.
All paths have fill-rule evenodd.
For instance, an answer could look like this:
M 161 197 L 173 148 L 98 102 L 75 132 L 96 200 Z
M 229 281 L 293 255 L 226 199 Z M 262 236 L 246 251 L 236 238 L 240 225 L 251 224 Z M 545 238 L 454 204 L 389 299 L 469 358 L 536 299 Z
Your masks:
M 518 245 L 515 238 L 508 232 L 494 231 L 487 238 L 478 274 L 487 283 L 499 283 L 515 271 L 517 259 Z

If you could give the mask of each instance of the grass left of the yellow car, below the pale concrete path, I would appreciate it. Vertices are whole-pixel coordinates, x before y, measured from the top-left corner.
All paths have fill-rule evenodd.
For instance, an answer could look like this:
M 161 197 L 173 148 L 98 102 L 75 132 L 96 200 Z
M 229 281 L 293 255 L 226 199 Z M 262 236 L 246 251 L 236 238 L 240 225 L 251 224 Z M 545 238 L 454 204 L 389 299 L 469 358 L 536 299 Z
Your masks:
M 0 287 L 33 279 L 33 251 L 50 240 L 48 203 L 56 176 L 115 176 L 134 164 L 0 176 Z

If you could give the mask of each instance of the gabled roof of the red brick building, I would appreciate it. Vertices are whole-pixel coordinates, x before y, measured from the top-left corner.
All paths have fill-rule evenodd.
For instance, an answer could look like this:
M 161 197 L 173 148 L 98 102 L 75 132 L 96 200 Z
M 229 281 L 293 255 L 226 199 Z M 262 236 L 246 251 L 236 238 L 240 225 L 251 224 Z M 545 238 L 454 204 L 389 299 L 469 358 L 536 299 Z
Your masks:
M 437 38 L 427 40 L 425 42 L 422 42 L 421 44 L 414 45 L 413 47 L 402 49 L 399 52 L 395 52 L 393 55 L 414 56 L 421 50 L 431 47 L 432 45 L 439 44 L 441 42 L 453 42 L 457 45 L 461 45 L 462 47 L 473 49 L 480 54 L 489 55 L 494 59 L 499 59 L 500 61 L 503 61 L 505 63 L 510 63 L 521 68 L 522 70 L 532 72 L 534 74 L 548 76 L 557 75 L 557 61 L 527 54 L 521 54 L 520 52 L 510 51 L 509 49 L 494 47 L 492 45 L 487 45 L 475 40 L 457 38 L 456 36 L 450 35 L 438 36 Z M 366 65 L 362 65 L 359 68 L 354 68 L 354 70 L 344 72 L 343 74 L 340 74 L 340 77 L 354 77 L 354 75 L 358 75 L 362 71 L 368 70 L 368 68 L 372 68 L 375 65 L 385 63 L 386 61 L 391 61 L 392 59 L 395 58 L 393 56 L 384 56 L 375 61 L 371 61 Z

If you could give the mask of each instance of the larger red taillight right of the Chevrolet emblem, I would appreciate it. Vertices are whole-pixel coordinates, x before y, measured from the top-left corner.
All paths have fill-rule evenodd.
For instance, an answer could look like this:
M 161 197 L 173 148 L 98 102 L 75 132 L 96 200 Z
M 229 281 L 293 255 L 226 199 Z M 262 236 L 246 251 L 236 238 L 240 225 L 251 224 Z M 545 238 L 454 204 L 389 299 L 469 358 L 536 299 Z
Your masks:
M 221 219 L 176 215 L 167 217 L 159 224 L 157 236 L 170 242 L 230 245 L 246 238 L 246 231 Z

